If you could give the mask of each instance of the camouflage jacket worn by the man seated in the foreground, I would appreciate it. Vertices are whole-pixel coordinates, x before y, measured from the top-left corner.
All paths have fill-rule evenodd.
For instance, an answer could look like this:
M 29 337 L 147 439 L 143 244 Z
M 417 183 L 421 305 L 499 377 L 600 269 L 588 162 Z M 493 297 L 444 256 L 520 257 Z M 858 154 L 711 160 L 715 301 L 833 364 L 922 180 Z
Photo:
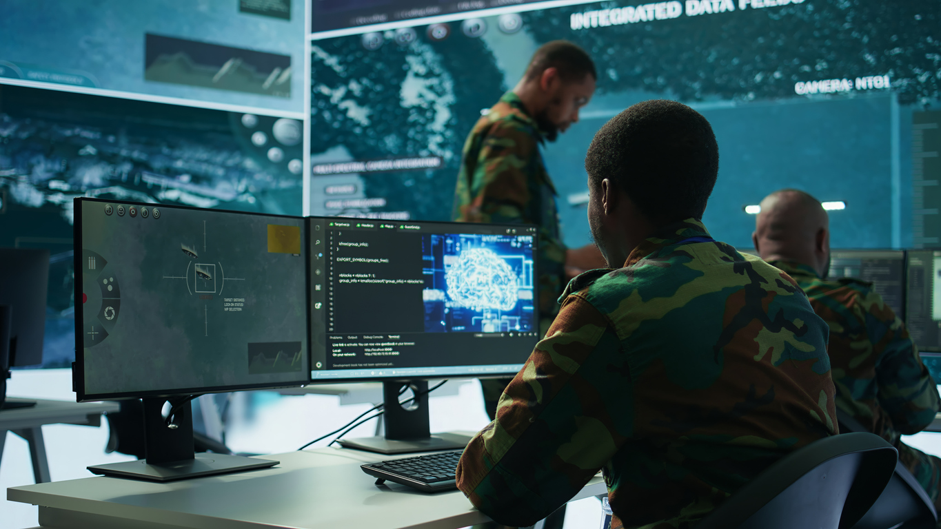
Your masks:
M 826 340 L 787 274 L 694 219 L 666 226 L 624 268 L 569 283 L 457 486 L 494 521 L 525 526 L 603 469 L 613 527 L 691 527 L 836 432 Z

